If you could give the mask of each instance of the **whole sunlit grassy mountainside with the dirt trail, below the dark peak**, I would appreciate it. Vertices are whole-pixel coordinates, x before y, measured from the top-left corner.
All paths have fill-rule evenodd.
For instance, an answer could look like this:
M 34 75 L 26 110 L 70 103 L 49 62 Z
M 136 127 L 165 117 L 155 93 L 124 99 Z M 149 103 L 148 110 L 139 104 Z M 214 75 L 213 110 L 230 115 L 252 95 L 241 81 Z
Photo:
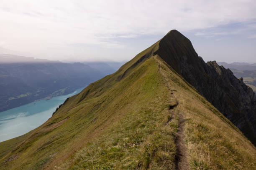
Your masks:
M 256 148 L 154 52 L 70 97 L 0 169 L 256 168 Z M 17 138 L 0 143 L 0 152 Z

